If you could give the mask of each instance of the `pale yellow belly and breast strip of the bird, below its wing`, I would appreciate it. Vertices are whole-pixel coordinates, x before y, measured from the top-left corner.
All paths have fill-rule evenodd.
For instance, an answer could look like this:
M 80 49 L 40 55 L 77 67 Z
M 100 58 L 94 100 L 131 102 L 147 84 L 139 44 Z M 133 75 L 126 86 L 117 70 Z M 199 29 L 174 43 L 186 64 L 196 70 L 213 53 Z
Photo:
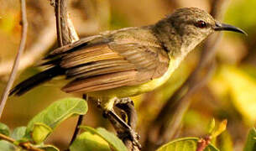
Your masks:
M 165 72 L 164 76 L 145 82 L 144 84 L 140 84 L 138 86 L 121 86 L 106 91 L 95 91 L 89 93 L 88 95 L 97 98 L 102 98 L 105 100 L 114 97 L 123 98 L 129 96 L 137 96 L 148 91 L 153 91 L 157 87 L 163 85 L 165 81 L 167 81 L 170 78 L 174 70 L 180 65 L 181 60 L 181 57 L 179 59 L 170 60 L 168 70 Z

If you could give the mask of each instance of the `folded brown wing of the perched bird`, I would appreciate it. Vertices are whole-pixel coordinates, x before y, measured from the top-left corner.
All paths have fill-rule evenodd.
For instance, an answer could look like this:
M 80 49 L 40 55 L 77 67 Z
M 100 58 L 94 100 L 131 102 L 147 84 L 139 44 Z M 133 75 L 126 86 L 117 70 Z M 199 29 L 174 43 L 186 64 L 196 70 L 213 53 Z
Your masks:
M 169 56 L 161 47 L 109 42 L 77 49 L 61 57 L 66 92 L 91 92 L 135 86 L 165 74 Z

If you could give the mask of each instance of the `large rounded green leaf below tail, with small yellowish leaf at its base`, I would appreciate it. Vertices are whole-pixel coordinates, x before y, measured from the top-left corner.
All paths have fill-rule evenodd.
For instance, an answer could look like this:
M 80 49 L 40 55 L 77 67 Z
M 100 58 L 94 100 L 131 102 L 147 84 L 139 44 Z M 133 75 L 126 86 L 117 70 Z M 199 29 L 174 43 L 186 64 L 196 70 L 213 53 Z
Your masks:
M 62 99 L 39 112 L 29 122 L 26 133 L 31 133 L 34 141 L 41 143 L 60 122 L 73 115 L 86 114 L 86 112 L 87 103 L 85 100 L 76 97 Z

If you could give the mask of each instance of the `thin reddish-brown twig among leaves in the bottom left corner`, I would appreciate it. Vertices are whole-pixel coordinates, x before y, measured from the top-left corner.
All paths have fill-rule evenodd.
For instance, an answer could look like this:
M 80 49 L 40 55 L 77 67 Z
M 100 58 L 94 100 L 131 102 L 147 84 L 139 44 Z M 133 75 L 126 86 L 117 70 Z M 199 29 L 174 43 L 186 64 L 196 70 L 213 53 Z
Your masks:
M 2 133 L 0 133 L 0 140 L 5 140 L 5 141 L 7 141 L 7 142 L 9 142 L 9 143 L 13 143 L 13 144 L 17 145 L 17 144 L 15 143 L 15 142 L 16 142 L 15 139 L 9 138 L 8 136 L 3 135 Z M 31 144 L 31 143 L 29 143 L 29 142 L 18 143 L 17 146 L 20 147 L 20 148 L 24 148 L 24 149 L 26 149 L 26 150 L 29 150 L 29 151 L 44 151 L 43 149 L 34 147 L 34 145 Z

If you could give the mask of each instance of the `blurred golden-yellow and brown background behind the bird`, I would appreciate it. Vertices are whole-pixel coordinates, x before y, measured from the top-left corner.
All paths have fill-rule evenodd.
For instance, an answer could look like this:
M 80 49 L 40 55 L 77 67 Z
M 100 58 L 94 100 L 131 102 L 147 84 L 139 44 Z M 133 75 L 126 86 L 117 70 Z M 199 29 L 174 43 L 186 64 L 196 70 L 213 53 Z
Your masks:
M 69 13 L 80 38 L 97 34 L 109 29 L 130 26 L 143 26 L 155 23 L 172 13 L 175 8 L 196 7 L 211 12 L 214 0 L 70 0 Z M 248 129 L 256 122 L 256 1 L 222 0 L 222 22 L 244 29 L 248 36 L 225 32 L 218 37 L 214 69 L 206 84 L 189 96 L 191 105 L 183 114 L 179 128 L 170 138 L 201 137 L 207 133 L 207 125 L 214 117 L 217 122 L 227 119 L 227 131 L 216 140 L 220 150 L 242 150 Z M 218 10 L 220 11 L 220 10 Z M 34 75 L 43 70 L 37 62 L 51 49 L 56 47 L 55 13 L 50 1 L 27 0 L 29 33 L 26 50 L 20 62 L 17 80 Z M 0 91 L 2 93 L 18 50 L 21 27 L 18 0 L 0 0 Z M 203 44 L 196 48 L 183 61 L 180 68 L 168 83 L 158 90 L 133 98 L 138 112 L 137 131 L 143 146 L 157 146 L 159 139 L 155 123 L 169 122 L 175 108 L 159 119 L 166 102 L 196 68 Z M 207 50 L 207 49 L 204 49 Z M 207 70 L 205 70 L 207 72 Z M 203 78 L 203 77 L 202 77 Z M 35 114 L 66 96 L 55 84 L 45 84 L 21 97 L 8 99 L 1 122 L 10 128 L 24 126 Z M 84 124 L 91 127 L 110 128 L 109 122 L 102 117 L 97 107 L 89 103 Z M 182 107 L 182 105 L 181 105 Z M 76 118 L 63 122 L 55 130 L 48 143 L 66 148 L 76 126 Z M 171 130 L 170 130 L 171 131 Z M 152 133 L 153 132 L 153 133 Z M 168 131 L 167 131 L 168 132 Z M 144 148 L 149 150 L 149 148 Z

